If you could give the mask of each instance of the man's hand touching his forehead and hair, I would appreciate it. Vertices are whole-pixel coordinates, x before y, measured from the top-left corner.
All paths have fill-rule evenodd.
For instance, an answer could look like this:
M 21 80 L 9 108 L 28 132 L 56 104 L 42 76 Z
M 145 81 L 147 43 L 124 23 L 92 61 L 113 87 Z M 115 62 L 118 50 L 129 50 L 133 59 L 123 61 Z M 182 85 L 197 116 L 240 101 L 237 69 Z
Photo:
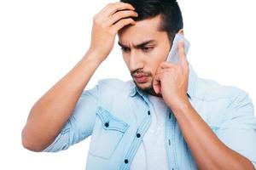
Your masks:
M 109 3 L 93 18 L 89 51 L 96 54 L 96 59 L 103 61 L 108 57 L 117 32 L 128 25 L 135 25 L 135 8 L 129 3 Z

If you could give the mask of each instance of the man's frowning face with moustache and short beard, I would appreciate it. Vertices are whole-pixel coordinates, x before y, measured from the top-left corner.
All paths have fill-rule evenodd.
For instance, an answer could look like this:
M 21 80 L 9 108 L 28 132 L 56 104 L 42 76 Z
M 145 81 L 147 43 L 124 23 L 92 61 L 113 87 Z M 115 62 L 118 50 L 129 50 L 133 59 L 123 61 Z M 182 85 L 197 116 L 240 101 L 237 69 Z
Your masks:
M 166 60 L 170 42 L 166 31 L 159 31 L 160 15 L 140 20 L 119 31 L 119 46 L 137 88 L 154 93 L 153 80 L 158 66 Z

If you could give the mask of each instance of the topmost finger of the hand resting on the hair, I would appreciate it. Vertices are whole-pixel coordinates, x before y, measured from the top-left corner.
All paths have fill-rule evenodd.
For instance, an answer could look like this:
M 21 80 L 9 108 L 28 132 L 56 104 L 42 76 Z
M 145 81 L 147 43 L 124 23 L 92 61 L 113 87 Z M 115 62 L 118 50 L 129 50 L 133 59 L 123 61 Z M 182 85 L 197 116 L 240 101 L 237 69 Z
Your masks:
M 104 11 L 104 14 L 106 16 L 110 16 L 112 14 L 115 14 L 119 10 L 125 10 L 125 9 L 135 10 L 135 8 L 130 3 L 121 3 L 121 2 L 109 3 Z

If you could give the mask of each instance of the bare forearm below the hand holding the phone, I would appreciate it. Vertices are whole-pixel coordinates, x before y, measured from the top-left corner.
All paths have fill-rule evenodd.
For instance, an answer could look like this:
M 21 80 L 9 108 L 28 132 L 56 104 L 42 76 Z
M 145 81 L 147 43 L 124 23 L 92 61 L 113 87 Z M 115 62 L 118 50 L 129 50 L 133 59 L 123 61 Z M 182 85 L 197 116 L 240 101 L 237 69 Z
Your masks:
M 189 100 L 172 106 L 172 111 L 199 169 L 254 169 L 251 161 L 218 139 Z

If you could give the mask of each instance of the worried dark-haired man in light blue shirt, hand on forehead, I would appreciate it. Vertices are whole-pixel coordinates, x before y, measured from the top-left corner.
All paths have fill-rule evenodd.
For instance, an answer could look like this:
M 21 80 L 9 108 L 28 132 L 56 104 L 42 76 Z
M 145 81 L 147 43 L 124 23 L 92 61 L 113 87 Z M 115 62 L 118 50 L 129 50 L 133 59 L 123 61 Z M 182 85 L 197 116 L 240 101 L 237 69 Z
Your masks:
M 125 0 L 95 15 L 84 58 L 33 105 L 24 147 L 59 151 L 91 135 L 86 169 L 254 169 L 256 119 L 247 93 L 196 76 L 179 42 L 175 0 Z M 84 90 L 118 34 L 132 81 Z

